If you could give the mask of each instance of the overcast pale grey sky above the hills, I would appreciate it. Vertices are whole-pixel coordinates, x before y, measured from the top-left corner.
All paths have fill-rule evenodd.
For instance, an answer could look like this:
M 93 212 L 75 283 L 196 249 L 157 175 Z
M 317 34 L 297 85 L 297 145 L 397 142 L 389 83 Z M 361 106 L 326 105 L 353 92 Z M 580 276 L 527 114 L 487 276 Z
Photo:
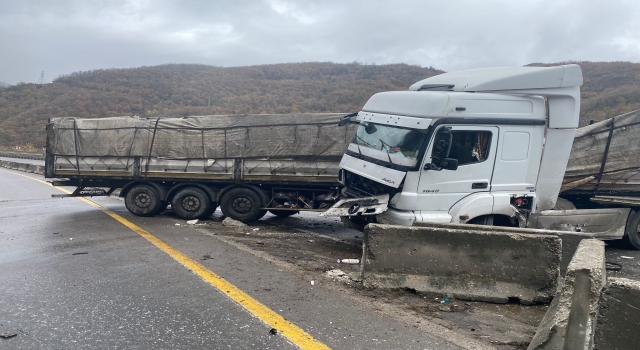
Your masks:
M 640 62 L 638 0 L 0 0 L 0 82 L 165 63 Z

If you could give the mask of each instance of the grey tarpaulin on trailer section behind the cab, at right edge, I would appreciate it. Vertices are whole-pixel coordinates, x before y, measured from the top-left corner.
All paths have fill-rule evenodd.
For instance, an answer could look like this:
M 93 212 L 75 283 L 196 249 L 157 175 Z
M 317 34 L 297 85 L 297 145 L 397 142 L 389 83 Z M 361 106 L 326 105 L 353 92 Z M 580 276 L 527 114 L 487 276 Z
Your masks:
M 640 110 L 579 128 L 563 190 L 633 190 L 640 180 L 639 154 Z

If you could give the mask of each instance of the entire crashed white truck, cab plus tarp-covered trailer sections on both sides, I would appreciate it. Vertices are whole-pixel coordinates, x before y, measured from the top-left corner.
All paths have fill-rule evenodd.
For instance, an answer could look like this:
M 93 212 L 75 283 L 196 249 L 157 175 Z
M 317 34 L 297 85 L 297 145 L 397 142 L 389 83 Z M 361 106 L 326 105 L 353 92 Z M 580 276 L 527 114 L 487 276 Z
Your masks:
M 518 226 L 640 249 L 640 116 L 577 132 L 582 82 L 575 64 L 484 68 L 375 94 L 346 116 L 52 119 L 46 177 L 71 196 L 122 188 L 141 216 L 170 203 L 202 218 L 219 204 L 243 222 L 308 210 L 360 228 Z

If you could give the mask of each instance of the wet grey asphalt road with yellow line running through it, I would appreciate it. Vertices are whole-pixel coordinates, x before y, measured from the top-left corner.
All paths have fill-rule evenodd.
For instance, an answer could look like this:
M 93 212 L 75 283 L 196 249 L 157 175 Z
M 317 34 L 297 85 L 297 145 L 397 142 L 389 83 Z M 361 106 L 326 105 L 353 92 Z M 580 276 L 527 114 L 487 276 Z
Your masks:
M 282 332 L 271 334 L 264 315 L 249 312 L 140 234 L 80 199 L 51 198 L 60 191 L 27 177 L 42 180 L 0 169 L 0 334 L 17 334 L 0 338 L 0 349 L 297 347 Z M 182 221 L 138 218 L 117 199 L 92 200 L 201 263 L 320 345 L 458 349 Z

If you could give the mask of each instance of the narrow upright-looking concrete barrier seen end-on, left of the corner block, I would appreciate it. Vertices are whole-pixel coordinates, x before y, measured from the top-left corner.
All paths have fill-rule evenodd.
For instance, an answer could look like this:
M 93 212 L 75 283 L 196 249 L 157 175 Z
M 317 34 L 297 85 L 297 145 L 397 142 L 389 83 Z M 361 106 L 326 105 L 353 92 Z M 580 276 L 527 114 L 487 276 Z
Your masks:
M 529 350 L 591 349 L 600 293 L 606 283 L 604 242 L 585 239 L 574 254 L 564 285 L 553 299 Z

